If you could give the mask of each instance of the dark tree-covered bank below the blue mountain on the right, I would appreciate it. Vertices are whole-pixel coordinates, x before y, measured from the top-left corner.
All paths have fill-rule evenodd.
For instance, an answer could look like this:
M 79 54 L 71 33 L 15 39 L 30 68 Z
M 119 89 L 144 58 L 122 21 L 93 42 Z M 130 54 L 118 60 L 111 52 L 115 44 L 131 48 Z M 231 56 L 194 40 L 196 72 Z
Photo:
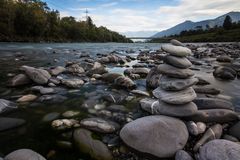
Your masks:
M 222 26 L 210 28 L 208 25 L 202 29 L 182 31 L 179 35 L 171 35 L 150 42 L 169 42 L 176 38 L 182 42 L 234 42 L 240 41 L 240 22 L 232 22 L 230 16 L 226 16 Z

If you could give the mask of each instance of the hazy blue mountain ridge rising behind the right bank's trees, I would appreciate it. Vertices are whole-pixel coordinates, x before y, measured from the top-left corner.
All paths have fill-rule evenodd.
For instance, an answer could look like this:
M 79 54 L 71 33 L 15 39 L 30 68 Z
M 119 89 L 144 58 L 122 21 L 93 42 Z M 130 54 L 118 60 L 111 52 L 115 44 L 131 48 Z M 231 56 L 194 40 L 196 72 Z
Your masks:
M 158 32 L 155 35 L 153 35 L 152 37 L 160 38 L 160 37 L 164 37 L 164 36 L 180 34 L 184 30 L 196 30 L 196 29 L 201 29 L 201 28 L 207 29 L 207 26 L 209 26 L 210 28 L 213 28 L 214 26 L 222 26 L 224 19 L 227 15 L 229 15 L 232 18 L 232 22 L 240 21 L 240 12 L 229 12 L 229 13 L 224 14 L 215 19 L 209 19 L 209 20 L 204 20 L 204 21 L 199 21 L 199 22 L 185 21 L 185 22 L 180 23 L 172 28 Z

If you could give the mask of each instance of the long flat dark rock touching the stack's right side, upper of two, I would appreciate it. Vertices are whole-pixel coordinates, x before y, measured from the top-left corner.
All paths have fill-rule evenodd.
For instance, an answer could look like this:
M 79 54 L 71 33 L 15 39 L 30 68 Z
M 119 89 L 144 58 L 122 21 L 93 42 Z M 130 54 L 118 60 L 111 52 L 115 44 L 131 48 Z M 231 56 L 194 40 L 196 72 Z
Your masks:
M 234 109 L 231 102 L 217 98 L 196 98 L 194 103 L 198 109 Z

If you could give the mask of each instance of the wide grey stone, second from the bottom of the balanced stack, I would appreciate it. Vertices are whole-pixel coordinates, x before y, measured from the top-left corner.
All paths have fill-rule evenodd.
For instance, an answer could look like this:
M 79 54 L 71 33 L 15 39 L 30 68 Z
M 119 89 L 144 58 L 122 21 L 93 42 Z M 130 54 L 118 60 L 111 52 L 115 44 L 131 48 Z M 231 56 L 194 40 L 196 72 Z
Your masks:
M 158 87 L 153 90 L 153 95 L 169 104 L 186 104 L 197 97 L 192 87 L 177 92 L 165 91 Z

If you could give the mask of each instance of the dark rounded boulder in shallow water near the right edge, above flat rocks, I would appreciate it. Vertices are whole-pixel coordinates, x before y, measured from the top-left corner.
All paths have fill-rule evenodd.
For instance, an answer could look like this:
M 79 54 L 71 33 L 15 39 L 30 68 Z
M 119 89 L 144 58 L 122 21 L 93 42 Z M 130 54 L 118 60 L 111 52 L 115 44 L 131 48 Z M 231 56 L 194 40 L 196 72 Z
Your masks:
M 218 67 L 214 70 L 213 75 L 220 79 L 234 80 L 237 72 L 230 67 Z

